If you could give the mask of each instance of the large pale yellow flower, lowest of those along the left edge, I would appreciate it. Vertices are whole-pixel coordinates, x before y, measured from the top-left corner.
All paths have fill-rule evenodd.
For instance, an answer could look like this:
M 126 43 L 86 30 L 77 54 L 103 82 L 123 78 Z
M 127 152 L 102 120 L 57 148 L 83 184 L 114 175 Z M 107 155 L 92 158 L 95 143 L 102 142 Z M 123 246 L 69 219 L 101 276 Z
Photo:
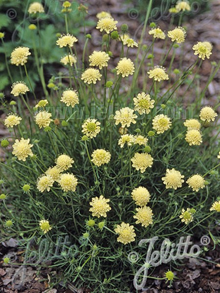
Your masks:
M 33 153 L 31 150 L 31 147 L 33 145 L 30 145 L 29 142 L 30 142 L 29 138 L 28 139 L 21 138 L 20 141 L 18 139 L 15 140 L 15 143 L 12 146 L 13 147 L 12 154 L 15 155 L 19 159 L 19 161 L 21 160 L 26 161 L 26 158 L 28 156 L 30 157 L 33 156 Z

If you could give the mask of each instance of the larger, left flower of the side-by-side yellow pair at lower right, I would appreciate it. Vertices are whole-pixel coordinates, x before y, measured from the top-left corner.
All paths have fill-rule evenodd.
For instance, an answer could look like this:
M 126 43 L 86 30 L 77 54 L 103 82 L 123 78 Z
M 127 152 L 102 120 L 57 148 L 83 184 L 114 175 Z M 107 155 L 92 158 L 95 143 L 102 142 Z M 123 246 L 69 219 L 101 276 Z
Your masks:
M 183 175 L 179 171 L 176 171 L 174 168 L 167 169 L 165 177 L 162 177 L 163 184 L 166 185 L 166 188 L 174 188 L 175 190 L 178 187 L 182 187 L 184 180 Z

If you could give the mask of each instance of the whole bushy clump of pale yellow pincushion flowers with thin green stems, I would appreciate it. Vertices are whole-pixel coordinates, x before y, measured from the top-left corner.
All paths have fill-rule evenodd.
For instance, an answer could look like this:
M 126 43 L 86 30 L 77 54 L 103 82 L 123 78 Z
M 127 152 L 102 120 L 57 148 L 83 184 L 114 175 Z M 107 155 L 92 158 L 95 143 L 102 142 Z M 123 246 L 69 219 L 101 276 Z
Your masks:
M 63 1 L 65 25 L 50 44 L 60 55 L 47 74 L 40 49 L 21 40 L 7 52 L 0 34 L 11 80 L 0 93 L 7 131 L 0 141 L 2 233 L 26 245 L 35 240 L 36 247 L 46 240 L 51 251 L 68 239 L 48 262 L 61 273 L 48 271 L 48 278 L 77 291 L 134 292 L 134 272 L 151 269 L 142 239 L 202 236 L 208 227 L 214 245 L 220 243 L 220 104 L 211 104 L 206 91 L 220 63 L 212 63 L 209 40 L 196 40 L 184 59 L 182 18 L 166 32 L 156 23 L 148 27 L 152 2 L 138 38 L 111 11 L 97 13 L 94 33 L 84 25 L 91 14 L 83 4 L 78 35 L 70 25 L 73 4 Z M 37 18 L 29 33 L 41 44 L 44 9 L 33 2 L 27 10 Z M 172 18 L 190 10 L 188 1 L 177 1 Z M 211 68 L 206 84 L 199 82 L 204 59 Z M 38 68 L 37 88 L 30 62 Z M 15 68 L 20 75 L 12 80 Z M 171 260 L 164 283 L 175 279 L 173 269 Z

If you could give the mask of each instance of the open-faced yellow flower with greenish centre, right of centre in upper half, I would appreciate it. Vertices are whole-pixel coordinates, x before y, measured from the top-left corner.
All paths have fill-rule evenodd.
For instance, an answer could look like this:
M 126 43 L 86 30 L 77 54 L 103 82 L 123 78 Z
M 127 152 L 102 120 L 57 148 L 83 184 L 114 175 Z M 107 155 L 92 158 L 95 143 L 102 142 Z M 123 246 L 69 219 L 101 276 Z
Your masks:
M 151 109 L 154 108 L 154 100 L 151 100 L 150 95 L 145 94 L 144 92 L 137 95 L 133 98 L 134 102 L 134 111 L 137 111 L 141 114 L 149 114 Z

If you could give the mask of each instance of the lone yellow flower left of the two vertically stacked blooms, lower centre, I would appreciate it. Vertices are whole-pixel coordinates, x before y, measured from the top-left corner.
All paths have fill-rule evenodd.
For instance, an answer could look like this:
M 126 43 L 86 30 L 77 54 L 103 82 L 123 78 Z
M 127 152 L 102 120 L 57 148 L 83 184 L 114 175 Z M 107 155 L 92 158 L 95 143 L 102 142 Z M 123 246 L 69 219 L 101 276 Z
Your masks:
M 100 197 L 98 198 L 93 197 L 91 202 L 89 203 L 89 205 L 91 206 L 91 208 L 89 209 L 89 211 L 92 212 L 92 216 L 93 217 L 107 217 L 107 211 L 110 211 L 111 207 L 108 204 L 108 202 L 110 202 L 109 199 L 104 198 L 103 195 L 100 195 Z

